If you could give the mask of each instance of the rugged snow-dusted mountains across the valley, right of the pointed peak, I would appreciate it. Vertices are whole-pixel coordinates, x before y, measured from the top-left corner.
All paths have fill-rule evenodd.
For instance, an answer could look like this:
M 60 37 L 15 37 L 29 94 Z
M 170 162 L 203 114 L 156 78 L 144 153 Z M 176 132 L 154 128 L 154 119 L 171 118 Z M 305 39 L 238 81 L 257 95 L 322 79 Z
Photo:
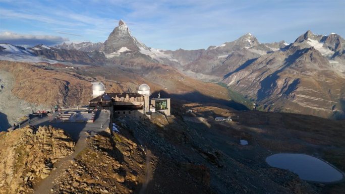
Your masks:
M 345 118 L 343 45 L 343 38 L 336 34 L 307 31 L 290 45 L 283 41 L 260 44 L 246 34 L 207 50 L 176 52 L 187 61 L 180 69 L 185 74 L 223 82 L 262 110 L 341 119 Z M 184 57 L 193 52 L 198 52 L 196 59 Z

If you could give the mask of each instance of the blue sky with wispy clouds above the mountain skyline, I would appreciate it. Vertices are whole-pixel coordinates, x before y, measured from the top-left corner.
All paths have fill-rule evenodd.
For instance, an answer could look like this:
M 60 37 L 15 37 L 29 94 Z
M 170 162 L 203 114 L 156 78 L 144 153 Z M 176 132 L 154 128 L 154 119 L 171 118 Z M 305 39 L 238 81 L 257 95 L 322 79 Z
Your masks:
M 345 0 L 0 0 L 0 42 L 104 42 L 120 19 L 132 35 L 153 48 L 207 48 L 247 32 L 260 42 L 290 43 L 307 30 L 344 37 Z

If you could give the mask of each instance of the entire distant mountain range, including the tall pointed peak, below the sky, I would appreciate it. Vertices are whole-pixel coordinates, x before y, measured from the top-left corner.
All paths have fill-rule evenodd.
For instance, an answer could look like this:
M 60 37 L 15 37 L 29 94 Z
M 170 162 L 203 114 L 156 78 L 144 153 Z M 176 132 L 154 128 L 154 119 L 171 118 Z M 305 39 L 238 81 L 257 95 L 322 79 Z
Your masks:
M 195 79 L 226 84 L 258 109 L 341 119 L 345 118 L 344 46 L 337 34 L 307 31 L 291 44 L 260 43 L 247 33 L 207 49 L 162 50 L 139 42 L 121 20 L 104 43 L 32 48 L 0 44 L 0 59 L 121 65 L 144 72 L 152 64 L 164 64 Z

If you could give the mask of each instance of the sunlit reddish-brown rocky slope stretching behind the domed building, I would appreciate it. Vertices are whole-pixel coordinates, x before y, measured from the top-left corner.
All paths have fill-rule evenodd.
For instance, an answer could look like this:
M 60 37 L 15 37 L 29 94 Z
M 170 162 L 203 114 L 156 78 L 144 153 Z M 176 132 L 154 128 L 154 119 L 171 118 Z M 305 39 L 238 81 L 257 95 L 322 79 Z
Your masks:
M 198 91 L 203 96 L 228 100 L 225 88 L 184 76 L 176 70 L 153 63 L 147 64 L 147 72 L 119 67 L 87 67 L 84 69 L 54 68 L 44 64 L 0 61 L 0 69 L 13 74 L 15 84 L 12 93 L 30 103 L 48 107 L 76 107 L 91 100 L 91 82 L 100 81 L 106 92 L 136 92 L 146 83 L 151 91 L 165 91 L 181 95 Z

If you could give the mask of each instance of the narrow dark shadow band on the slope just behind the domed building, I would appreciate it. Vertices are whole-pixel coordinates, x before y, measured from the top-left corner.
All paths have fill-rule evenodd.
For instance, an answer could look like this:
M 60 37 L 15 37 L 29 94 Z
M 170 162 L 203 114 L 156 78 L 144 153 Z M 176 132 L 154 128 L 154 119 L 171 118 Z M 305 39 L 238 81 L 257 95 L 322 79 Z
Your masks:
M 248 108 L 245 105 L 235 102 L 234 100 L 224 100 L 224 99 L 214 98 L 214 97 L 201 94 L 198 91 L 189 92 L 185 94 L 169 94 L 165 91 L 157 91 L 157 92 L 152 93 L 151 97 L 156 98 L 158 96 L 158 92 L 160 93 L 160 96 L 162 98 L 187 100 L 187 101 L 195 102 L 195 103 L 215 103 L 215 104 L 228 106 L 236 110 L 248 110 Z

